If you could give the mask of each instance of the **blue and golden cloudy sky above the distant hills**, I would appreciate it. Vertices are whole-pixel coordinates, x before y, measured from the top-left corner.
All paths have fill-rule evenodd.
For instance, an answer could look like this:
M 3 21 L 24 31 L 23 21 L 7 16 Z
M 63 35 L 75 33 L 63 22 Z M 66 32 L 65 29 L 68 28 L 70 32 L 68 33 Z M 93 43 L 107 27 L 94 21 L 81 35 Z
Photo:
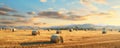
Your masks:
M 0 24 L 120 25 L 119 0 L 0 0 Z

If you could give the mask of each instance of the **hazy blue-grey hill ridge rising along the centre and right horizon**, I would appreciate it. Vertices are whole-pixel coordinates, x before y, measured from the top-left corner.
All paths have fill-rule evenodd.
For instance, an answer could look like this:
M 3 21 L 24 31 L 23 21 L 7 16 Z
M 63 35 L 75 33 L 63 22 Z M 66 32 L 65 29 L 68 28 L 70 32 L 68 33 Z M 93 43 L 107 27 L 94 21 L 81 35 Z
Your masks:
M 102 29 L 102 28 L 115 30 L 115 29 L 120 29 L 120 26 L 93 25 L 93 24 L 70 24 L 70 25 L 63 25 L 63 26 L 51 26 L 51 27 L 47 27 L 46 29 Z

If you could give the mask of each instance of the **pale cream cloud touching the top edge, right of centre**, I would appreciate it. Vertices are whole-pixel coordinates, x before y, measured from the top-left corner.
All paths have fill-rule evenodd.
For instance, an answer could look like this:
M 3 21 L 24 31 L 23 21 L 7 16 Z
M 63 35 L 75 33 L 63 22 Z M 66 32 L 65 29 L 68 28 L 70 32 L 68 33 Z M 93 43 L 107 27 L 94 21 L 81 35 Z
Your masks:
M 99 9 L 97 6 L 94 5 L 94 3 L 101 5 L 109 5 L 107 0 L 80 0 L 80 3 L 87 9 L 92 11 L 97 11 Z

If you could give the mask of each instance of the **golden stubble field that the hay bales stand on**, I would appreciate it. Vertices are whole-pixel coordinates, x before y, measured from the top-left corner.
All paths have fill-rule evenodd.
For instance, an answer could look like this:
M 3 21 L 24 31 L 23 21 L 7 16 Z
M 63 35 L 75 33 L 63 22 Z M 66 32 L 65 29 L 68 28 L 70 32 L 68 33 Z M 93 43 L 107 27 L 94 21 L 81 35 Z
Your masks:
M 120 32 L 62 30 L 64 43 L 51 43 L 55 30 L 39 30 L 40 35 L 32 36 L 31 30 L 0 31 L 0 48 L 120 48 Z

